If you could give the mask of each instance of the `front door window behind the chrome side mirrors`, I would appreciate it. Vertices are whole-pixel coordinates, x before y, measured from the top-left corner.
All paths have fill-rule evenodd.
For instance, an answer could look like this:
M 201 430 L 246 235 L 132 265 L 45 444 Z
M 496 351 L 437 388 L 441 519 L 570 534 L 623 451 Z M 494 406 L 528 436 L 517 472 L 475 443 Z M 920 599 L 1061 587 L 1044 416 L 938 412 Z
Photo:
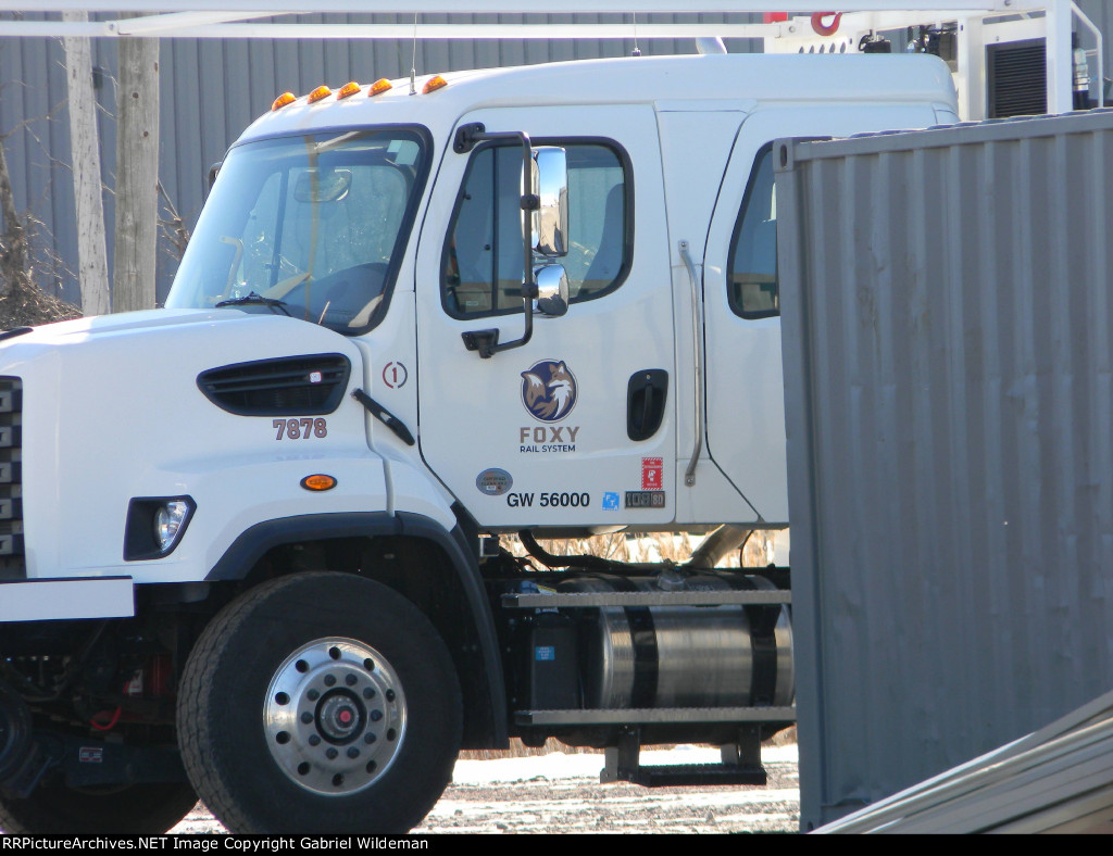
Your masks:
M 568 157 L 569 252 L 552 261 L 564 266 L 577 302 L 617 287 L 629 268 L 629 177 L 607 146 L 556 145 Z M 522 310 L 521 176 L 518 146 L 486 147 L 472 156 L 442 260 L 450 315 Z

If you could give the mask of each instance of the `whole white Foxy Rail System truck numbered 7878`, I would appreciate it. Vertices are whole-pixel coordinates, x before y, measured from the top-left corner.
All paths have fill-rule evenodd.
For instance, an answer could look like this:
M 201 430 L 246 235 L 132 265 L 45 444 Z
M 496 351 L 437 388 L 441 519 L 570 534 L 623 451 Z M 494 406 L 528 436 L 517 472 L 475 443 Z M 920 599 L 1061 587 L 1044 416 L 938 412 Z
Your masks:
M 276 100 L 166 308 L 0 336 L 0 826 L 404 832 L 512 737 L 764 782 L 787 570 L 715 566 L 788 524 L 771 143 L 958 118 L 884 54 Z M 723 763 L 639 765 L 676 741 Z

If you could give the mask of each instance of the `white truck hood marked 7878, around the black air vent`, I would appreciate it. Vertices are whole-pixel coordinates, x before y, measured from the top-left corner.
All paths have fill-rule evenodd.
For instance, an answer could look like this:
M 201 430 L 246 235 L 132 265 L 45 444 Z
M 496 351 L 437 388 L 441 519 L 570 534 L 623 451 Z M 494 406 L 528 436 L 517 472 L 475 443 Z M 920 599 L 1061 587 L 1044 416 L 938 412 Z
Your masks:
M 314 412 L 319 434 L 301 422 L 290 429 L 297 441 L 285 432 L 278 438 L 292 415 L 282 401 L 238 412 L 199 381 L 242 364 L 292 359 L 301 367 L 319 357 L 334 365 L 337 356 L 351 367 L 339 404 Z M 363 384 L 359 349 L 327 327 L 286 316 L 155 310 L 46 325 L 0 342 L 0 377 L 20 389 L 22 525 L 32 576 L 119 571 L 136 497 L 191 496 L 198 520 L 216 514 L 213 530 L 235 528 L 235 504 L 217 501 L 220 490 L 205 481 L 209 470 L 293 467 L 302 478 L 319 466 L 312 462 L 317 458 L 371 459 L 366 412 L 348 395 Z M 372 492 L 381 491 L 381 464 L 370 471 Z M 283 485 L 297 498 L 304 492 L 290 474 Z M 204 564 L 201 553 L 194 560 Z

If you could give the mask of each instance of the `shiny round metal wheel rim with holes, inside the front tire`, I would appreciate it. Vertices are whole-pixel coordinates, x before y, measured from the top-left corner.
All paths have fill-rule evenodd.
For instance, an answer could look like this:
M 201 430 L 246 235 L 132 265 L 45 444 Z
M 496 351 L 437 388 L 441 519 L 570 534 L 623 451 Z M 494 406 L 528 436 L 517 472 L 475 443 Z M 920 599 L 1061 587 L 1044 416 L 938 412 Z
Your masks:
M 278 667 L 263 703 L 267 748 L 306 790 L 347 796 L 394 763 L 405 737 L 398 676 L 356 639 L 316 639 Z

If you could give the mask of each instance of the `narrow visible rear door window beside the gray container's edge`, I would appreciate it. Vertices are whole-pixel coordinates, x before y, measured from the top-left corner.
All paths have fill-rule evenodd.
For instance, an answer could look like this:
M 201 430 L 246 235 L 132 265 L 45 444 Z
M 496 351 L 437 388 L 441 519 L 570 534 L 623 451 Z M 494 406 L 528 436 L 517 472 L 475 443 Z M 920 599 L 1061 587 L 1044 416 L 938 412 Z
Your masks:
M 742 210 L 730 242 L 727 299 L 742 318 L 780 315 L 777 290 L 777 186 L 772 177 L 772 147 L 755 160 Z

